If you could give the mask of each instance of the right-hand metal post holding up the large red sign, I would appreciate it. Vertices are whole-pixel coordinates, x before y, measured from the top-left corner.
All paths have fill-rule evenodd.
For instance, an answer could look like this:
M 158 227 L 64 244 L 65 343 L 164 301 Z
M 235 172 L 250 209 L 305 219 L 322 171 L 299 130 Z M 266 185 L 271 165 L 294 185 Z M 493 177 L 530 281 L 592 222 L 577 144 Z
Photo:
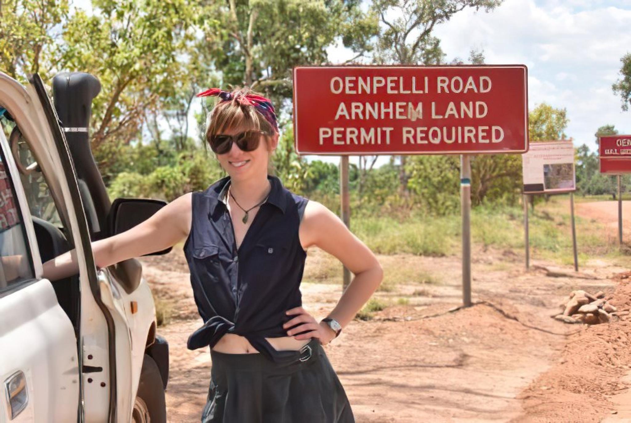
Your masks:
M 463 218 L 463 305 L 471 307 L 471 157 L 460 156 L 460 205 Z

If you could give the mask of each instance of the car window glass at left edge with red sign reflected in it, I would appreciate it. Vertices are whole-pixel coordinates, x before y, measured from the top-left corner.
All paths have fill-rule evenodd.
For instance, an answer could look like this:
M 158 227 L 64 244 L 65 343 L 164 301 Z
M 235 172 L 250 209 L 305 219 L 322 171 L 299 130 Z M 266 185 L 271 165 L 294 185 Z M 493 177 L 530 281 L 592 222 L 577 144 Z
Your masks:
M 32 280 L 33 259 L 6 157 L 0 152 L 0 292 Z

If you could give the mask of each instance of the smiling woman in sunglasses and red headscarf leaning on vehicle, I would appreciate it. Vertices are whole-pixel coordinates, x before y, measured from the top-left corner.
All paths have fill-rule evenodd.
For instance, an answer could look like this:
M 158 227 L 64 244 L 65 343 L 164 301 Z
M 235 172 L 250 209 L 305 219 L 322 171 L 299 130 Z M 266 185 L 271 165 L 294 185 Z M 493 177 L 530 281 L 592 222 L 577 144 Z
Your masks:
M 321 345 L 336 338 L 382 280 L 374 254 L 325 206 L 268 176 L 278 145 L 274 108 L 246 90 L 213 88 L 206 141 L 228 176 L 169 203 L 133 229 L 93 242 L 100 268 L 182 240 L 204 325 L 189 349 L 210 347 L 203 422 L 353 422 L 346 393 Z M 354 274 L 317 321 L 302 308 L 305 250 L 317 246 Z M 44 265 L 61 278 L 71 254 Z

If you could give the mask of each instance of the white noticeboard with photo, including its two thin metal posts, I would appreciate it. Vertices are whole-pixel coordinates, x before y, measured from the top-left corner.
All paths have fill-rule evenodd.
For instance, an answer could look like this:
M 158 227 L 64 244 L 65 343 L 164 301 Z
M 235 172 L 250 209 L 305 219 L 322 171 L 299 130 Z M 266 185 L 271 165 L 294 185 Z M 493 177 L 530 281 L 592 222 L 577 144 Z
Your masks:
M 574 144 L 571 140 L 531 143 L 528 152 L 524 153 L 521 159 L 522 174 L 524 177 L 523 201 L 526 269 L 530 266 L 528 195 L 570 193 L 574 270 L 578 271 L 579 261 L 576 247 L 576 225 L 574 219 L 574 191 L 576 191 Z

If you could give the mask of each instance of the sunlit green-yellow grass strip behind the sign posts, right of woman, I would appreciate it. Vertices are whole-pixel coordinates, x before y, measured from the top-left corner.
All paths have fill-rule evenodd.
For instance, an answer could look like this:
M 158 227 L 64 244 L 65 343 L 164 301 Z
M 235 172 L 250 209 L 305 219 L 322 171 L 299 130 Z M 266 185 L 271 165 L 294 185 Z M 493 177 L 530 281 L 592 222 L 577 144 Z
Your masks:
M 603 201 L 607 196 L 575 197 L 577 201 Z M 580 200 L 579 200 L 580 199 Z M 481 205 L 471 210 L 471 239 L 478 246 L 509 250 L 524 249 L 524 214 L 521 206 Z M 351 222 L 351 229 L 380 254 L 415 254 L 445 256 L 459 254 L 461 245 L 460 215 L 432 217 L 413 213 L 405 220 L 366 215 Z M 569 195 L 552 196 L 529 208 L 529 242 L 533 258 L 572 264 L 572 227 Z M 615 230 L 591 219 L 576 217 L 579 261 L 593 257 L 620 258 Z M 631 259 L 630 259 L 631 261 Z M 407 266 L 385 269 L 382 290 L 389 292 L 399 283 L 440 283 L 433 275 L 422 275 Z

